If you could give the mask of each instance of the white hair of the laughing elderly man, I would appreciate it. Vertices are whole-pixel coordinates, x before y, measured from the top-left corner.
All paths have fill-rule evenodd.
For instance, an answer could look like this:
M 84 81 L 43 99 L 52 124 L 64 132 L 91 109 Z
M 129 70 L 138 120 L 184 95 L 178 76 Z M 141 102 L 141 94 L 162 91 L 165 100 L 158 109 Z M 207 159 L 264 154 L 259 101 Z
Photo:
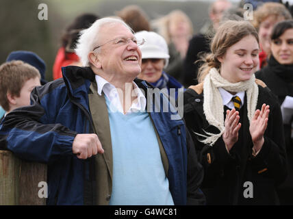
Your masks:
M 79 40 L 77 40 L 77 45 L 75 49 L 75 53 L 79 56 L 81 64 L 83 66 L 90 66 L 90 62 L 88 60 L 88 53 L 94 49 L 95 43 L 97 43 L 97 36 L 99 36 L 100 27 L 105 25 L 106 23 L 120 23 L 125 25 L 130 31 L 133 30 L 122 20 L 118 18 L 101 18 L 88 27 L 88 29 L 84 29 L 80 31 Z

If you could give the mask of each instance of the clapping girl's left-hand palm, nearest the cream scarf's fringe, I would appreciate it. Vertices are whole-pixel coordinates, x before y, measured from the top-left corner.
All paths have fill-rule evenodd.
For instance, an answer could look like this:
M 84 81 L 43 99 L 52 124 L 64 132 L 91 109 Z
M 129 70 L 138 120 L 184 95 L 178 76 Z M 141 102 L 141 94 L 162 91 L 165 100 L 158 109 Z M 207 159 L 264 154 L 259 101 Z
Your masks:
M 225 131 L 222 134 L 222 140 L 225 142 L 228 151 L 230 151 L 233 145 L 238 141 L 238 131 L 241 127 L 239 119 L 240 116 L 238 111 L 234 108 L 231 111 L 227 110 Z

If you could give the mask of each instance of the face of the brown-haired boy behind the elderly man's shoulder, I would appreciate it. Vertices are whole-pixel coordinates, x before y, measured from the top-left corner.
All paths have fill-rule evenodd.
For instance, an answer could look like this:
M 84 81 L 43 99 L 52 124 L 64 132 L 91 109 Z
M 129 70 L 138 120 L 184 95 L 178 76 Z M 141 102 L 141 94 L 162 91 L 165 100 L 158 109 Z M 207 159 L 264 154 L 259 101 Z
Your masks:
M 31 91 L 36 87 L 40 86 L 40 78 L 35 77 L 25 81 L 23 88 L 21 88 L 21 92 L 19 96 L 14 96 L 15 105 L 13 108 L 23 107 L 25 105 L 30 105 L 30 95 Z M 12 109 L 13 110 L 13 109 Z

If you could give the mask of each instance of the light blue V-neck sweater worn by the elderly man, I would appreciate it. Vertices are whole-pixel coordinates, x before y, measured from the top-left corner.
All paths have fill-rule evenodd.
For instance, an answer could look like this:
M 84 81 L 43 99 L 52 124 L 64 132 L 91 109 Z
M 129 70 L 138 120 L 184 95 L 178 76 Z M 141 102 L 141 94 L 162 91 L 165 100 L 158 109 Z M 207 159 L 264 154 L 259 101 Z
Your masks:
M 110 205 L 174 205 L 147 112 L 109 112 L 113 181 Z

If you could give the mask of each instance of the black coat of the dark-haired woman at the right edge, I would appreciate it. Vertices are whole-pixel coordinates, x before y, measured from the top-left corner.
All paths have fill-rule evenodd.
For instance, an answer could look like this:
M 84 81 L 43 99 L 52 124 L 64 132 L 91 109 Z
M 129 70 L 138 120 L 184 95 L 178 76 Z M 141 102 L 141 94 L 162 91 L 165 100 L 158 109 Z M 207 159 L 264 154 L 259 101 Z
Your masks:
M 281 105 L 285 96 L 293 96 L 293 65 L 281 65 L 273 56 L 268 60 L 268 65 L 255 73 L 255 77 L 266 83 L 268 88 L 277 95 Z M 293 118 L 292 118 L 293 119 Z M 293 141 L 291 138 L 291 125 L 284 124 L 285 145 L 288 157 L 288 177 L 278 188 L 282 205 L 293 205 Z

